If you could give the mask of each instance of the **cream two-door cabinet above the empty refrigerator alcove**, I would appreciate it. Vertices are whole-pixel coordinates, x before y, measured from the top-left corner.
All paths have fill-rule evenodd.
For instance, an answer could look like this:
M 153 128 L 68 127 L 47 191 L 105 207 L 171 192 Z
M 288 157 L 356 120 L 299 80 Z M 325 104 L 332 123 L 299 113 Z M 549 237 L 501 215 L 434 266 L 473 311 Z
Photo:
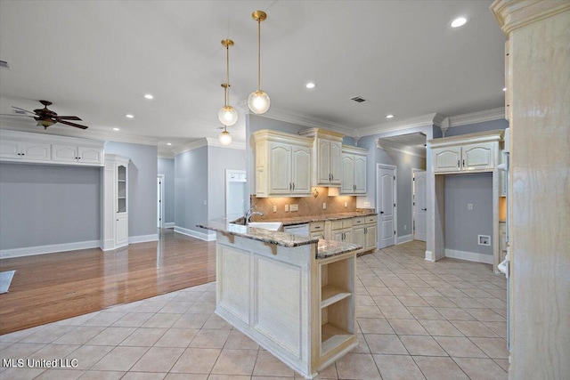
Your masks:
M 434 173 L 493 171 L 499 163 L 502 133 L 469 133 L 429 141 Z

